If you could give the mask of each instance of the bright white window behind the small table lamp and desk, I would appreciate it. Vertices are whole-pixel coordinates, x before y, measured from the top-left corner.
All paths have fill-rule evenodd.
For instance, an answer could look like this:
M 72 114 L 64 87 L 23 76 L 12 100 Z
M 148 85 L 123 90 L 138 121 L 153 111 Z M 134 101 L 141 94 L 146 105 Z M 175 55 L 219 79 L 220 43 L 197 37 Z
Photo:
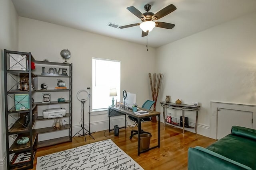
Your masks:
M 106 109 L 112 105 L 110 88 L 116 88 L 120 101 L 120 61 L 92 58 L 92 110 Z

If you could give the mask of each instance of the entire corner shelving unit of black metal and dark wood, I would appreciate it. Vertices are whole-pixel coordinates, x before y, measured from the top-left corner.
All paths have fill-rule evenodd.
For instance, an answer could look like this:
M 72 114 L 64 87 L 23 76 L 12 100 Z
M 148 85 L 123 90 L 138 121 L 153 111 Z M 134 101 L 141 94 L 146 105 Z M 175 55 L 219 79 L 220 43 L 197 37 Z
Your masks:
M 19 61 L 21 58 L 23 61 Z M 47 64 L 55 66 L 65 66 L 69 69 L 68 75 L 40 75 L 33 74 L 31 62 L 35 64 Z M 37 89 L 38 78 L 49 77 L 47 81 L 57 80 L 57 78 L 68 78 L 68 89 L 62 90 L 40 90 Z M 28 89 L 18 89 L 22 79 L 28 81 Z M 36 87 L 33 86 L 36 84 Z M 55 92 L 68 93 L 68 100 L 65 102 L 51 101 L 50 103 L 34 102 L 32 97 L 37 93 L 47 92 L 54 94 Z M 26 100 L 25 104 L 17 100 L 16 95 L 23 95 Z M 27 97 L 28 96 L 28 97 Z M 24 170 L 33 168 L 34 155 L 39 147 L 56 145 L 64 142 L 72 141 L 72 64 L 36 61 L 31 53 L 19 51 L 8 51 L 4 49 L 4 100 L 5 100 L 5 124 L 6 124 L 6 159 L 8 170 Z M 22 104 L 21 104 L 22 103 Z M 17 105 L 21 105 L 17 109 Z M 62 125 L 59 129 L 54 127 L 43 127 L 34 129 L 36 122 L 44 125 L 44 122 L 50 119 L 44 119 L 38 115 L 38 108 L 52 104 L 68 105 L 67 113 L 63 118 L 69 118 L 69 123 Z M 26 105 L 26 106 L 24 106 Z M 24 107 L 23 107 L 24 106 Z M 68 135 L 45 141 L 38 141 L 38 135 L 42 133 L 60 132 L 62 130 L 69 131 Z M 28 137 L 26 144 L 18 145 L 17 140 L 22 137 Z M 23 154 L 23 156 L 21 156 Z M 24 156 L 26 154 L 26 156 Z M 23 160 L 27 157 L 26 160 Z

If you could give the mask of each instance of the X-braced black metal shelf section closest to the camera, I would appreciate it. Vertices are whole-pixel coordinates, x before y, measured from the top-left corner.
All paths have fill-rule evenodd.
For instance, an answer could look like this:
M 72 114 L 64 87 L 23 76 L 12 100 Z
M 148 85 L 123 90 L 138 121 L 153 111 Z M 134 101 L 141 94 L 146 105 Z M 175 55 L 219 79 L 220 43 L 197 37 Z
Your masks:
M 11 55 L 25 55 L 26 58 L 26 66 L 23 66 L 26 71 L 24 70 L 11 70 L 10 68 L 10 63 L 8 63 L 8 61 L 10 62 L 10 57 L 12 57 Z M 9 58 L 8 58 L 9 57 Z M 26 128 L 24 128 L 21 131 L 12 131 L 12 129 L 9 131 L 9 121 L 8 121 L 8 116 L 9 114 L 11 114 L 12 112 L 10 111 L 11 109 L 8 109 L 8 107 L 10 107 L 10 101 L 8 101 L 8 96 L 10 96 L 10 94 L 28 94 L 29 95 L 29 106 L 32 106 L 32 83 L 31 83 L 31 79 L 32 79 L 32 72 L 31 72 L 31 61 L 34 60 L 32 58 L 32 55 L 30 52 L 25 53 L 25 52 L 18 52 L 18 51 L 8 51 L 6 49 L 4 49 L 4 101 L 5 101 L 5 124 L 6 124 L 6 159 L 7 159 L 7 168 L 8 170 L 10 169 L 14 169 L 17 168 L 19 166 L 19 164 L 16 165 L 11 165 L 10 163 L 10 156 L 12 156 L 13 153 L 19 153 L 19 152 L 24 152 L 24 151 L 30 151 L 30 161 L 26 162 L 24 164 L 24 169 L 25 168 L 33 168 L 33 147 L 34 147 L 34 141 L 33 141 L 33 137 L 32 137 L 32 107 L 26 111 L 18 111 L 16 113 L 21 114 L 21 113 L 27 113 L 29 114 L 29 117 L 31 117 L 28 126 Z M 10 64 L 10 65 L 8 65 Z M 20 64 L 20 61 L 17 61 L 16 64 Z M 17 79 L 14 76 L 18 76 Z M 8 77 L 10 76 L 10 77 Z M 17 87 L 17 84 L 19 83 L 19 78 L 20 76 L 26 76 L 26 78 L 28 78 L 28 86 L 30 90 L 27 91 L 18 91 L 18 90 L 13 90 L 14 87 Z M 34 75 L 33 75 L 34 76 Z M 16 81 L 16 84 L 10 84 L 9 83 L 9 78 L 12 78 L 13 80 Z M 8 84 L 9 83 L 9 84 Z M 8 89 L 9 86 L 12 86 L 12 88 Z M 10 100 L 10 99 L 9 99 Z M 14 102 L 14 101 L 13 101 Z M 14 106 L 15 107 L 15 106 Z M 16 121 L 17 125 L 18 120 Z M 15 124 L 15 123 L 14 123 Z M 13 127 L 13 126 L 12 126 Z M 16 145 L 16 140 L 14 141 L 9 141 L 9 137 L 12 137 L 12 135 L 14 134 L 21 134 L 22 133 L 26 133 L 27 136 L 29 137 L 29 142 L 26 144 L 26 148 L 25 149 L 20 149 L 21 146 L 17 146 Z M 11 138 L 12 139 L 12 138 Z M 12 142 L 12 143 L 11 143 Z M 12 144 L 12 145 L 11 145 Z M 11 147 L 9 147 L 11 145 Z M 21 147 L 22 148 L 22 147 Z

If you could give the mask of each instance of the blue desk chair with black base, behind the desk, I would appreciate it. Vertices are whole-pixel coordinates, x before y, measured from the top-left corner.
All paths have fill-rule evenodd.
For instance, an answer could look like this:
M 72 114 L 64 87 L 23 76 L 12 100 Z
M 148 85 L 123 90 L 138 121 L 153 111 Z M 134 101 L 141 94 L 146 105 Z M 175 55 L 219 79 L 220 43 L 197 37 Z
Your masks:
M 153 105 L 154 103 L 155 103 L 155 101 L 147 100 L 147 101 L 144 102 L 144 104 L 142 105 L 142 108 L 150 110 L 150 108 L 152 107 L 152 105 Z M 132 121 L 134 121 L 135 125 L 138 127 L 138 125 L 137 125 L 138 120 L 137 120 L 135 117 L 132 117 L 132 116 L 128 116 L 128 117 L 129 117 L 129 119 L 131 119 Z M 151 119 L 152 119 L 151 117 L 146 117 L 146 118 L 143 118 L 141 121 L 151 121 Z M 150 134 L 149 132 L 143 131 L 143 130 L 141 129 L 140 134 L 143 134 L 143 133 L 148 133 L 148 134 Z M 137 135 L 137 134 L 138 134 L 138 131 L 132 130 L 132 131 L 131 131 L 130 139 L 132 139 L 132 137 L 133 137 L 134 135 Z

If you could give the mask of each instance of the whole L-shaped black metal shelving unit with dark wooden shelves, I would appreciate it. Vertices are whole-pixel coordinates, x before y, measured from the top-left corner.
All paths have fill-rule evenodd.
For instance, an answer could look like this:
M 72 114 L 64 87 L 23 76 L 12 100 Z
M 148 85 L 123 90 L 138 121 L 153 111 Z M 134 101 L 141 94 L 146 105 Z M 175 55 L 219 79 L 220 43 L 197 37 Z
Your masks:
M 11 67 L 10 57 L 15 55 L 26 55 L 26 66 L 22 65 L 21 70 L 14 70 Z M 14 58 L 12 58 L 13 61 Z M 16 61 L 14 59 L 14 61 Z M 20 64 L 20 61 L 17 61 Z M 31 62 L 35 64 L 47 64 L 56 66 L 68 66 L 69 74 L 64 75 L 36 75 L 33 74 L 31 69 Z M 15 63 L 14 63 L 15 65 Z M 37 90 L 32 86 L 32 79 L 36 77 L 65 77 L 69 78 L 69 88 L 61 90 Z M 20 83 L 21 78 L 28 79 L 29 90 L 21 91 L 17 89 L 17 85 Z M 36 80 L 37 81 L 37 80 Z M 65 102 L 52 101 L 48 104 L 45 103 L 33 103 L 32 95 L 37 92 L 68 92 L 69 99 Z M 29 109 L 18 110 L 15 108 L 15 94 L 28 94 L 29 95 Z M 8 51 L 4 49 L 4 100 L 5 100 L 5 124 L 6 124 L 6 160 L 8 170 L 12 169 L 30 169 L 33 168 L 34 155 L 38 147 L 46 147 L 49 145 L 56 145 L 63 142 L 72 142 L 72 64 L 68 63 L 55 63 L 55 62 L 45 62 L 36 61 L 30 52 L 19 52 L 19 51 Z M 38 106 L 49 105 L 49 104 L 68 104 L 69 111 L 64 117 L 69 117 L 69 124 L 62 125 L 60 129 L 54 129 L 53 127 L 44 127 L 40 129 L 33 129 L 36 121 L 44 121 L 48 119 L 43 119 L 42 116 L 38 116 Z M 24 125 L 25 117 L 29 115 L 29 123 L 27 126 Z M 11 118 L 10 118 L 11 117 Z M 10 121 L 9 121 L 10 120 Z M 52 131 L 61 131 L 69 129 L 69 135 L 64 137 L 59 137 L 56 139 L 50 139 L 47 141 L 38 142 L 39 133 L 48 133 Z M 16 142 L 21 137 L 28 137 L 29 142 L 24 145 L 18 145 Z M 49 144 L 50 143 L 50 144 Z M 10 147 L 9 147 L 10 146 Z M 22 152 L 30 152 L 30 160 L 27 162 L 20 162 L 17 164 L 12 164 L 10 161 L 12 157 L 16 154 Z

